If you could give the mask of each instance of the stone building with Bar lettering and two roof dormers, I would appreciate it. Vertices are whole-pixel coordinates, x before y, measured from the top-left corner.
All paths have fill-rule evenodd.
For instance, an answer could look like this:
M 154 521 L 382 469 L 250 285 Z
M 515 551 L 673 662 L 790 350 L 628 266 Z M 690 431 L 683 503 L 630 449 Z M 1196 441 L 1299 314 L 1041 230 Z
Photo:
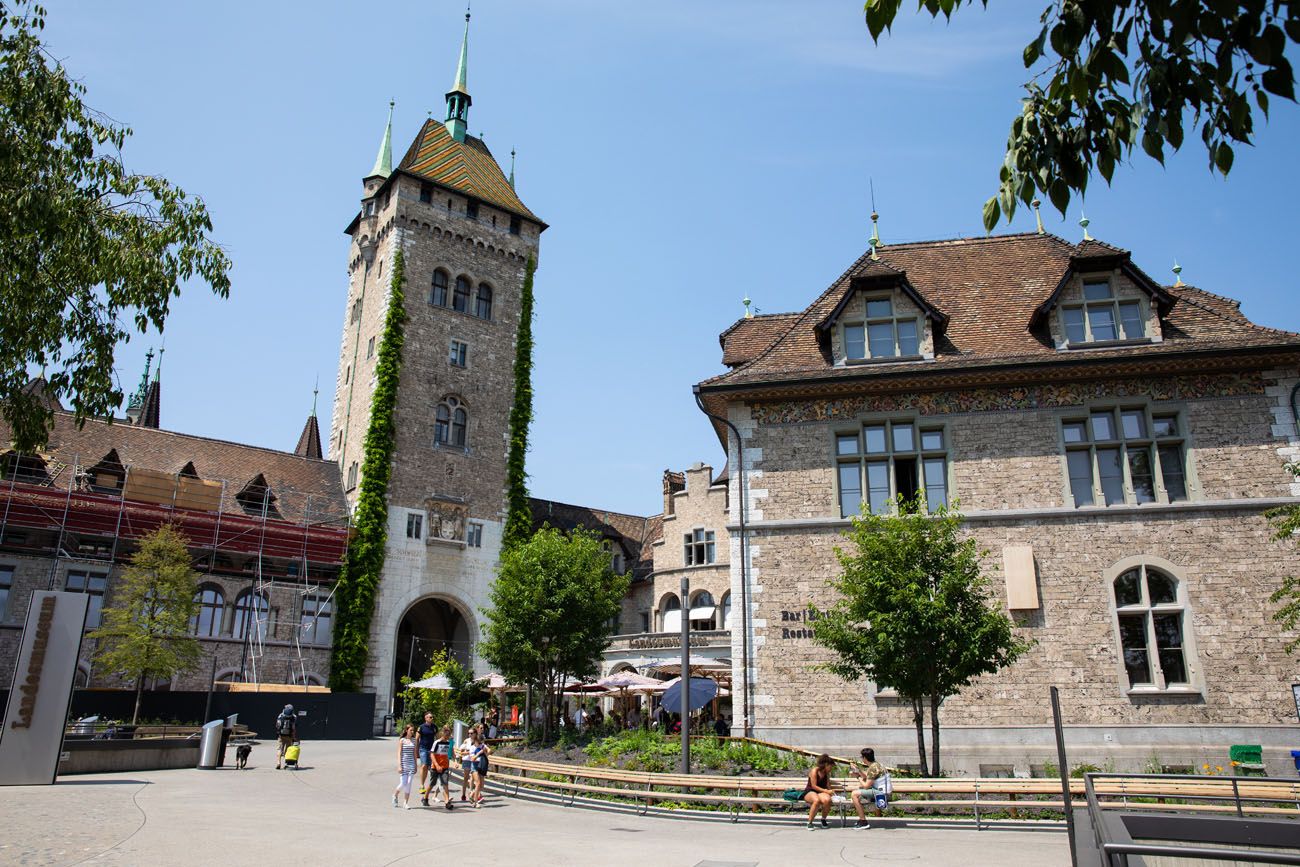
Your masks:
M 1104 750 L 1294 741 L 1296 660 L 1268 604 L 1294 549 L 1264 512 L 1300 494 L 1283 469 L 1300 337 L 1127 251 L 1020 234 L 872 248 L 722 343 L 731 369 L 697 389 L 741 438 L 715 420 L 732 502 L 748 490 L 759 737 L 914 750 L 909 706 L 814 671 L 805 621 L 849 516 L 922 493 L 959 500 L 1036 641 L 945 702 L 946 745 L 1046 744 L 1050 684 Z

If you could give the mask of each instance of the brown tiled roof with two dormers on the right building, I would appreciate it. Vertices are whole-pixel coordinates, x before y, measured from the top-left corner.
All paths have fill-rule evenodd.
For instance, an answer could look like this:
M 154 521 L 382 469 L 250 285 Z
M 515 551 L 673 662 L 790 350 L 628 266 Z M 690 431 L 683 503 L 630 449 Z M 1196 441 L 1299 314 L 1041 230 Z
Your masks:
M 946 330 L 936 341 L 933 361 L 832 367 L 824 343 L 818 339 L 816 325 L 841 302 L 854 277 L 880 270 L 880 263 L 864 253 L 802 313 L 789 315 L 792 320 L 770 317 L 771 326 L 759 326 L 749 335 L 737 330 L 740 324 L 728 329 L 722 338 L 723 363 L 738 367 L 702 385 L 790 382 L 812 376 L 866 381 L 902 370 L 923 376 L 932 370 L 1019 360 L 1066 360 L 1066 355 L 1052 344 L 1045 328 L 1030 328 L 1035 311 L 1053 295 L 1071 260 L 1127 257 L 1127 252 L 1102 242 L 1076 246 L 1056 235 L 1031 233 L 890 244 L 880 247 L 879 256 L 889 268 L 904 272 L 927 300 L 949 316 Z M 1136 268 L 1134 270 L 1144 282 L 1149 279 Z M 1300 348 L 1300 335 L 1249 322 L 1228 299 L 1190 286 L 1156 289 L 1174 299 L 1162 318 L 1162 343 L 1098 347 L 1089 350 L 1086 357 L 1100 360 L 1266 346 Z M 777 322 L 788 328 L 774 337 Z M 736 350 L 728 334 L 738 334 Z M 767 337 L 772 339 L 766 348 L 744 357 Z M 1071 354 L 1070 360 L 1080 357 L 1084 355 Z

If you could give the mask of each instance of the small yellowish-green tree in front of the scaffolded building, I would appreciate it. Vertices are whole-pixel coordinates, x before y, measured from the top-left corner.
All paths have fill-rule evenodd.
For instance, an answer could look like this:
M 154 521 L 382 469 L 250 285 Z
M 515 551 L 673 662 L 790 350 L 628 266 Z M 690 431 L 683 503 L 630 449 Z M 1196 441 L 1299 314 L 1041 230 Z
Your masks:
M 199 663 L 199 641 L 190 634 L 199 573 L 191 567 L 185 536 L 164 525 L 140 539 L 131 565 L 113 586 L 104 621 L 90 633 L 99 666 L 135 684 L 135 710 L 150 677 L 168 679 Z

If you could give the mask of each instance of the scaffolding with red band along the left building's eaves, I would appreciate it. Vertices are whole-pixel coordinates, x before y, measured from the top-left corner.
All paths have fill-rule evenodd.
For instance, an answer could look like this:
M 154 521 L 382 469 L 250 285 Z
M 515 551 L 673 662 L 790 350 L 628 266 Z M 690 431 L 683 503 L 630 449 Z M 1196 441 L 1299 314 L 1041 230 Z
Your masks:
M 287 485 L 272 490 L 261 476 L 255 480 L 263 482 L 260 490 L 252 482 L 237 490 L 226 480 L 126 464 L 121 484 L 107 486 L 90 472 L 103 461 L 87 467 L 79 455 L 70 465 L 40 455 L 6 452 L 3 458 L 0 549 L 49 558 L 47 589 L 57 589 L 61 565 L 110 569 L 127 562 L 130 542 L 170 524 L 186 537 L 196 571 L 250 580 L 252 593 L 239 594 L 233 621 L 243 633 L 239 680 L 260 682 L 272 625 L 269 601 L 278 588 L 296 602 L 290 616 L 278 617 L 292 637 L 291 680 L 296 675 L 307 684 L 303 633 L 315 632 L 321 611 L 333 611 L 337 582 L 329 576 L 347 554 L 350 515 L 341 497 Z M 52 545 L 40 543 L 51 538 Z M 244 558 L 242 569 L 234 568 L 235 558 Z M 244 598 L 240 619 L 238 599 Z M 313 599 L 309 614 L 308 598 Z

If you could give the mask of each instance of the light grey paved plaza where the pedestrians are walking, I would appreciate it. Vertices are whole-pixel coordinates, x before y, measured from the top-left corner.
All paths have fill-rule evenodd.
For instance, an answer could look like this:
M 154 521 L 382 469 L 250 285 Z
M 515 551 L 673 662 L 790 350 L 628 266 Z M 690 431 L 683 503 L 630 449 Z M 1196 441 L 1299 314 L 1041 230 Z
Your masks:
M 233 758 L 233 754 L 231 754 Z M 1067 864 L 1061 831 L 923 824 L 809 832 L 803 823 L 688 822 L 491 794 L 481 810 L 394 810 L 391 740 L 274 747 L 247 771 L 87 775 L 0 788 L 4 864 Z M 459 794 L 459 789 L 456 790 Z M 460 802 L 456 802 L 460 807 Z

